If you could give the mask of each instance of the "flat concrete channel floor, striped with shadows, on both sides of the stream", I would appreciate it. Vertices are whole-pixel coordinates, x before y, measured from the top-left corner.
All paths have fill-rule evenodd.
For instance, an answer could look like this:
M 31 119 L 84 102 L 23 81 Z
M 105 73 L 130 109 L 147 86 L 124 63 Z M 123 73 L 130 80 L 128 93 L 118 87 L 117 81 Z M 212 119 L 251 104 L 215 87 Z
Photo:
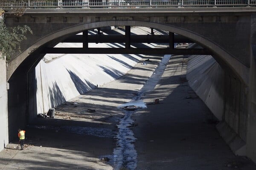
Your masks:
M 116 125 L 124 116 L 116 107 L 137 94 L 160 61 L 146 59 L 151 62 L 140 62 L 122 78 L 58 106 L 54 119 L 35 119 L 26 127 L 25 150 L 17 150 L 16 142 L 0 152 L 0 169 L 113 169 L 101 158 L 113 155 L 116 147 Z M 248 158 L 234 156 L 218 135 L 214 116 L 185 74 L 186 57 L 172 56 L 156 88 L 143 97 L 147 108 L 134 113 L 137 170 L 256 170 Z M 156 98 L 160 104 L 152 103 Z

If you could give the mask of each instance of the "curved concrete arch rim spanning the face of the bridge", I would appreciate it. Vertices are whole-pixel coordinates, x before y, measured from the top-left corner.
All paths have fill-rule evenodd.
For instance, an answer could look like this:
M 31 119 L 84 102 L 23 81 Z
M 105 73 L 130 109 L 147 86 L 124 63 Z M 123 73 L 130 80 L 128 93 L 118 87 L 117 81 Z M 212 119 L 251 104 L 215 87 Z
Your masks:
M 170 26 L 167 24 L 151 23 L 151 22 L 136 21 L 136 20 L 123 20 L 123 21 L 113 20 L 113 21 L 85 23 L 85 24 L 72 26 L 67 29 L 60 30 L 58 32 L 53 32 L 52 34 L 39 39 L 35 44 L 30 46 L 28 49 L 22 52 L 19 56 L 17 56 L 16 58 L 14 58 L 12 61 L 8 63 L 7 80 L 11 78 L 12 74 L 15 72 L 18 66 L 20 66 L 20 64 L 29 56 L 31 52 L 35 51 L 39 47 L 48 43 L 49 41 L 52 41 L 58 37 L 71 34 L 74 32 L 81 32 L 83 30 L 94 29 L 94 28 L 105 27 L 105 26 L 145 26 L 145 27 L 152 27 L 156 29 L 162 29 L 169 32 L 174 32 L 179 35 L 188 37 L 197 43 L 203 44 L 212 52 L 214 52 L 216 55 L 215 58 L 219 59 L 218 61 L 221 61 L 225 65 L 227 65 L 229 69 L 232 70 L 232 72 L 235 75 L 237 75 L 237 77 L 241 80 L 241 82 L 248 85 L 249 68 L 247 68 L 244 64 L 242 64 L 236 58 L 234 58 L 230 53 L 228 53 L 223 48 L 221 48 L 221 46 L 218 46 L 218 44 L 186 29 Z

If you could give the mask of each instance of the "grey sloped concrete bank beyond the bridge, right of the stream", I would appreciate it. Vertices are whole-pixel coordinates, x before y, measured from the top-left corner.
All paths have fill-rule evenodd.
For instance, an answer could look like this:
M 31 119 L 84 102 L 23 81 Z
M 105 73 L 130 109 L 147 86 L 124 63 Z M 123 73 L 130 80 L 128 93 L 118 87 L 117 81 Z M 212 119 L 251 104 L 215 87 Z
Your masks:
M 210 55 L 192 55 L 188 58 L 189 86 L 204 101 L 219 121 L 224 115 L 224 71 Z

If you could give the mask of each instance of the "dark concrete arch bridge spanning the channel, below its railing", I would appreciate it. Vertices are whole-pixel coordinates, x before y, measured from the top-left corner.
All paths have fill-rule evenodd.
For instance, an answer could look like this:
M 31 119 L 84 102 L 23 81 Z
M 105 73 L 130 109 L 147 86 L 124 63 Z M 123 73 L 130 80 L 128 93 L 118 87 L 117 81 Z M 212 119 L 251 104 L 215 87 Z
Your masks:
M 237 8 L 108 8 L 108 9 L 26 9 L 20 17 L 6 10 L 8 27 L 28 25 L 33 35 L 21 44 L 10 61 L 1 65 L 3 84 L 8 82 L 9 138 L 35 116 L 33 70 L 46 53 L 151 53 L 212 55 L 225 71 L 225 110 L 222 121 L 239 139 L 234 152 L 256 161 L 256 15 L 254 7 Z M 88 30 L 125 26 L 125 35 L 111 35 L 123 49 L 91 49 L 88 43 L 109 42 L 104 35 L 88 35 Z M 144 26 L 169 35 L 131 35 L 131 26 Z M 83 35 L 76 35 L 83 32 Z M 175 34 L 174 34 L 175 33 Z M 146 39 L 146 40 L 145 40 Z M 83 43 L 81 48 L 53 48 L 59 42 Z M 162 49 L 136 49 L 133 43 L 162 42 Z M 178 42 L 195 42 L 203 49 L 175 49 Z M 140 52 L 138 52 L 140 50 Z M 1 78 L 1 80 L 3 80 Z M 5 88 L 3 88 L 5 89 Z M 235 92 L 235 94 L 234 94 Z M 3 90 L 3 95 L 7 92 Z M 6 97 L 7 98 L 7 97 Z M 7 111 L 8 110 L 8 111 Z M 221 128 L 220 128 L 221 129 Z M 8 142 L 8 132 L 3 137 Z M 0 142 L 3 143 L 3 140 Z M 2 147 L 3 144 L 0 143 Z

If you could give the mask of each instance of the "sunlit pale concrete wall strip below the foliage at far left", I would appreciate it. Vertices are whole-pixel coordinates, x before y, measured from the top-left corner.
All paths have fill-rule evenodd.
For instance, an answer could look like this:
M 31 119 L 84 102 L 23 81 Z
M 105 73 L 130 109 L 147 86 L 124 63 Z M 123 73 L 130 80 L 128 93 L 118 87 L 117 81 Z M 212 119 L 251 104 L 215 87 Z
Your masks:
M 6 60 L 0 53 L 0 150 L 9 143 L 8 138 L 8 112 L 7 112 L 7 86 L 6 86 Z

